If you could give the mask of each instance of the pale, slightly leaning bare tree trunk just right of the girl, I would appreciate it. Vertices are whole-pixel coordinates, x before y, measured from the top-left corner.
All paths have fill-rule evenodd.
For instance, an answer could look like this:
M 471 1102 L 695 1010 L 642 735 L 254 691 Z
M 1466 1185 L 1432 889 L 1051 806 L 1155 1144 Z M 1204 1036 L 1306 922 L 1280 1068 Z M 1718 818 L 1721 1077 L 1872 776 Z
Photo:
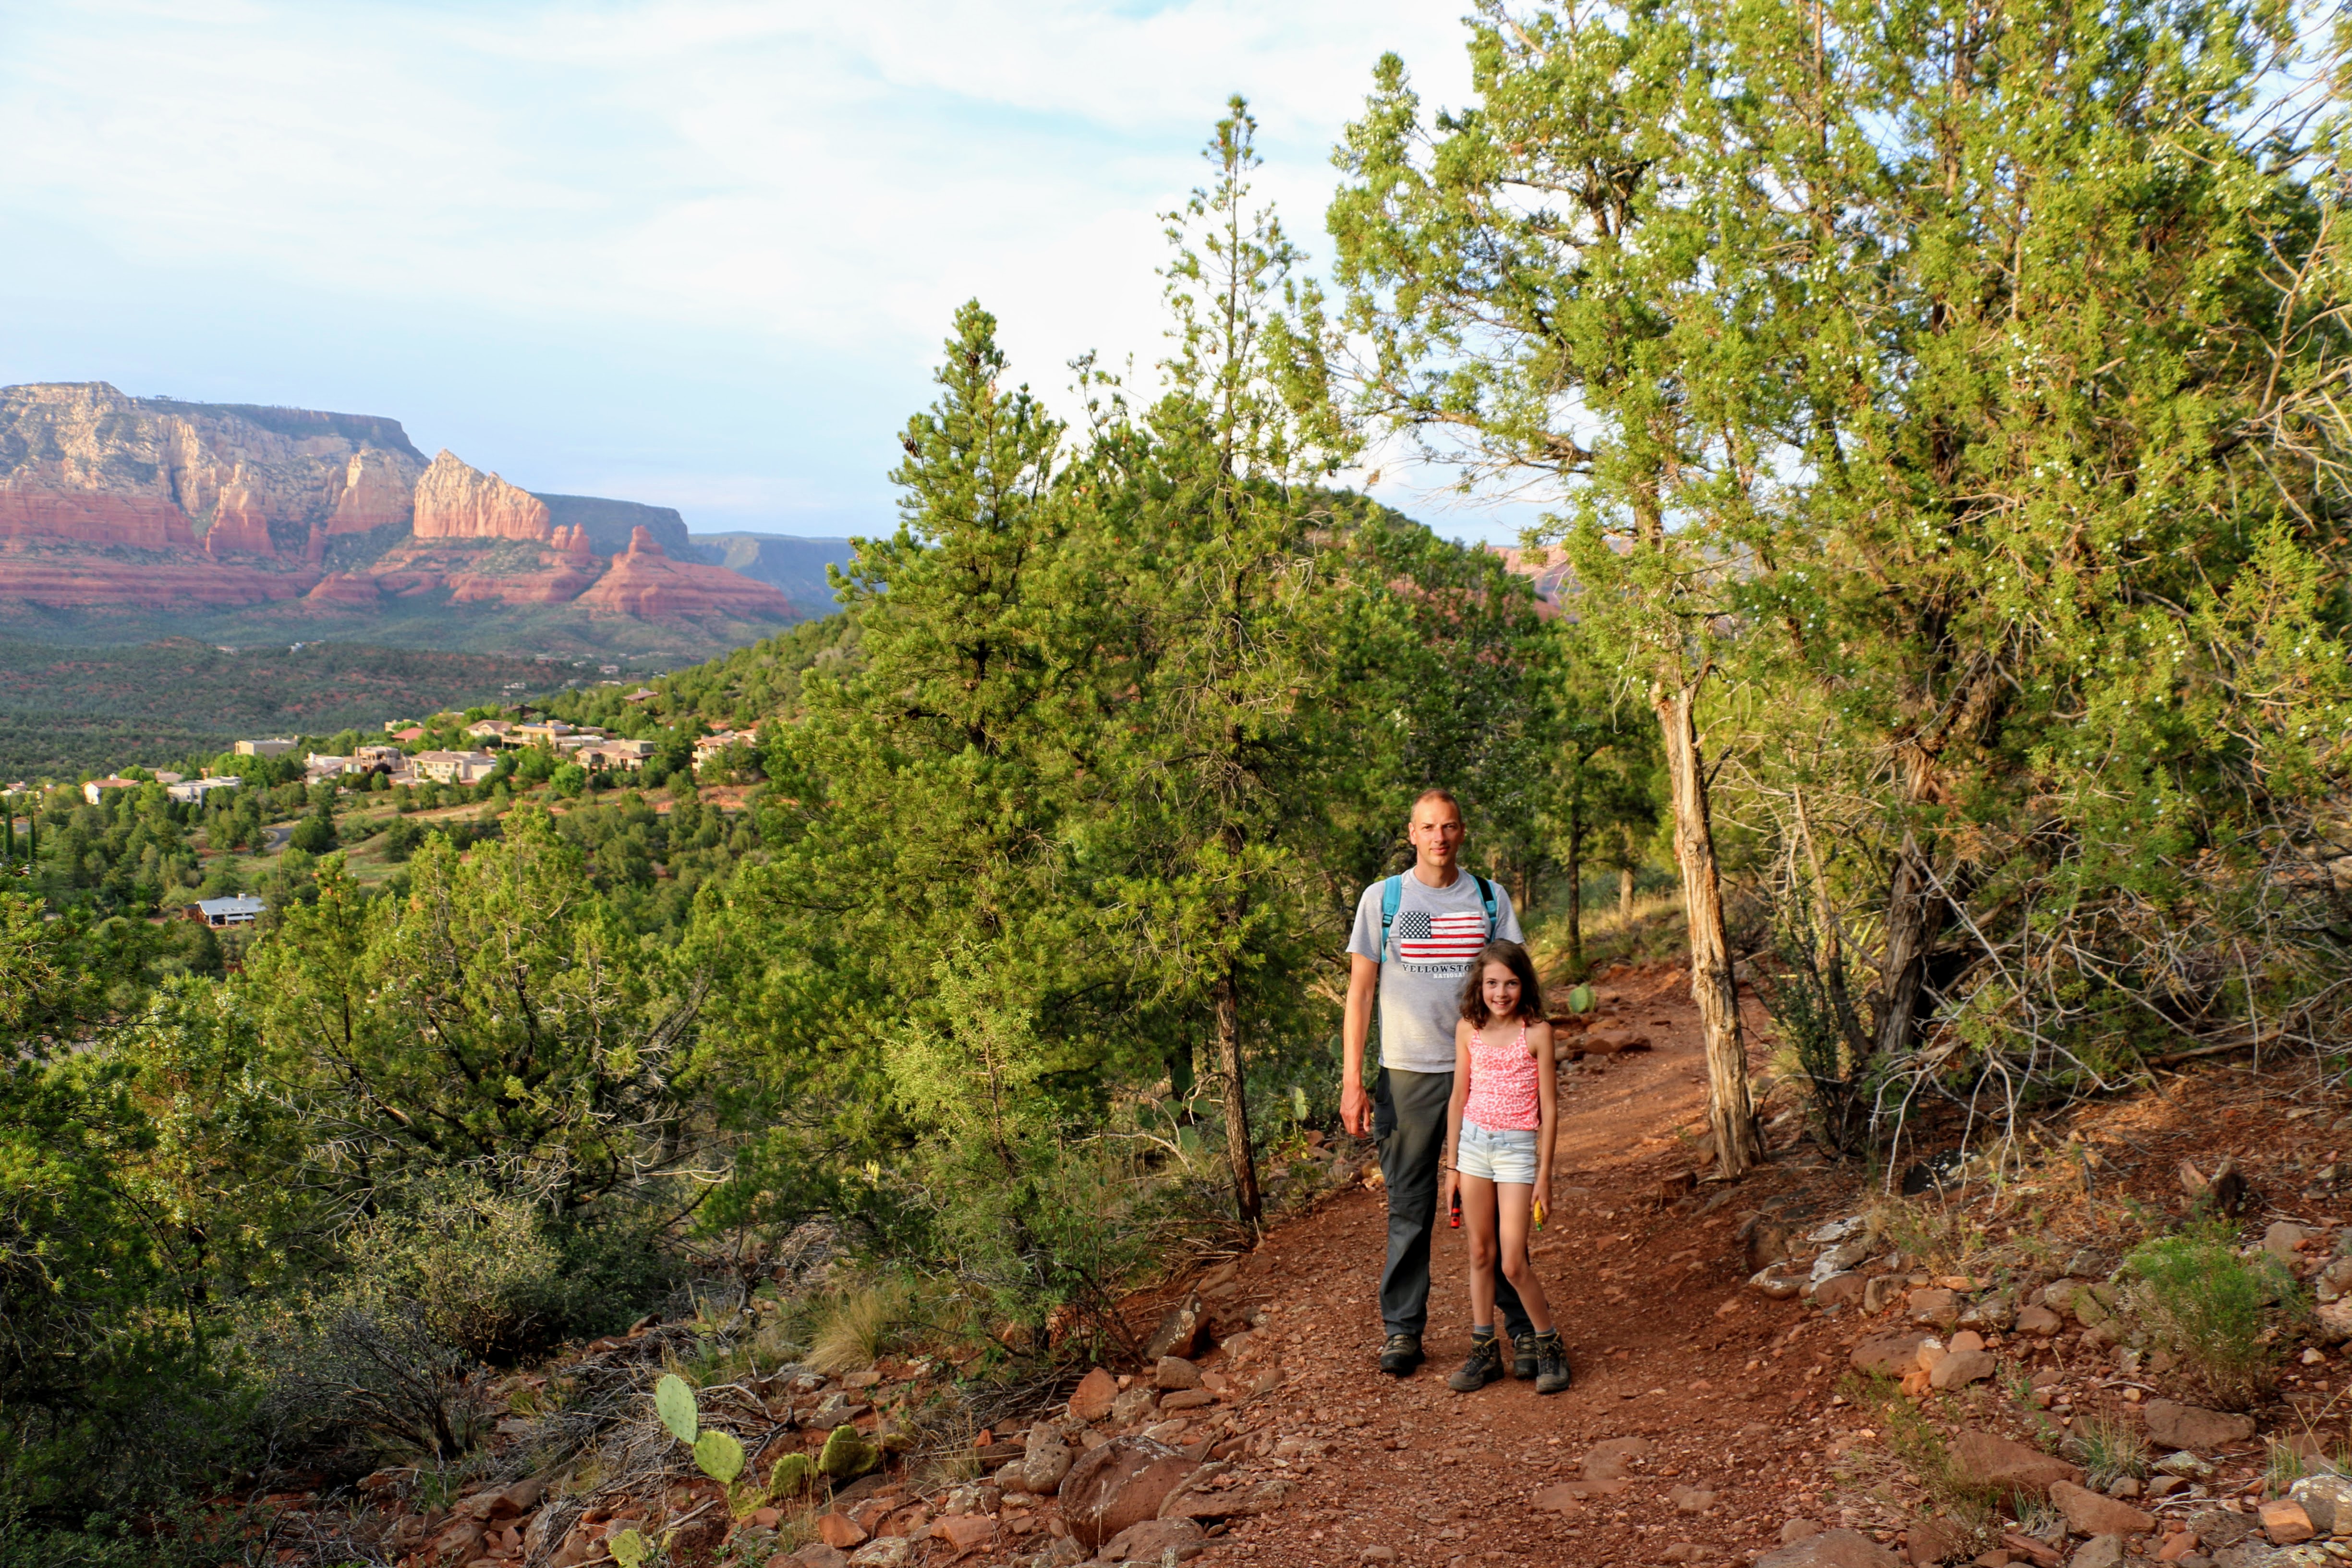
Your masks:
M 1745 1175 L 1762 1159 L 1755 1105 L 1748 1098 L 1748 1046 L 1740 1039 L 1740 994 L 1731 980 L 1731 936 L 1724 929 L 1724 886 L 1715 867 L 1715 827 L 1708 823 L 1708 771 L 1698 757 L 1691 682 L 1661 682 L 1651 701 L 1665 731 L 1665 771 L 1675 797 L 1675 860 L 1682 865 L 1682 907 L 1691 933 L 1691 999 L 1708 1034 L 1708 1126 L 1715 1128 L 1715 1168 Z

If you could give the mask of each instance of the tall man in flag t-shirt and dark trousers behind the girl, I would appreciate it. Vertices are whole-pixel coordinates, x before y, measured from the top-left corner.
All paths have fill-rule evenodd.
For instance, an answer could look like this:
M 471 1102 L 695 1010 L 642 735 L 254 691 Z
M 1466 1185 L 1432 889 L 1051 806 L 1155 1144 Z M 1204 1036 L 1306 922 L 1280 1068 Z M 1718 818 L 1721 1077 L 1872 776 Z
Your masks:
M 1338 1119 L 1381 1147 L 1388 1182 L 1388 1267 L 1381 1272 L 1381 1371 L 1421 1366 L 1430 1321 L 1430 1244 L 1437 1239 L 1437 1157 L 1454 1098 L 1454 1020 L 1479 947 L 1524 940 L 1510 893 L 1461 870 L 1463 813 L 1446 790 L 1423 790 L 1406 837 L 1414 870 L 1385 877 L 1355 900 L 1348 938 L 1348 1020 L 1341 1034 Z M 1364 1093 L 1364 1037 L 1381 999 L 1381 1077 Z M 1536 1326 L 1496 1269 L 1494 1300 L 1510 1333 L 1510 1375 L 1536 1375 Z

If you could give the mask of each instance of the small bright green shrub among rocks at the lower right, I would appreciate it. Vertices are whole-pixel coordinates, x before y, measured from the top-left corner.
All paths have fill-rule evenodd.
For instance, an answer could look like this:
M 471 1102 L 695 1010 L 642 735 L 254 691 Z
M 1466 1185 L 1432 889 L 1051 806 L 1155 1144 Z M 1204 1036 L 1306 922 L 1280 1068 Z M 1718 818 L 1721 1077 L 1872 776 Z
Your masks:
M 2213 1399 L 2253 1403 L 2279 1371 L 2281 1319 L 2303 1312 L 2303 1291 L 2267 1253 L 2239 1258 L 2223 1225 L 2194 1225 L 2143 1241 L 2124 1258 L 2131 1309 Z

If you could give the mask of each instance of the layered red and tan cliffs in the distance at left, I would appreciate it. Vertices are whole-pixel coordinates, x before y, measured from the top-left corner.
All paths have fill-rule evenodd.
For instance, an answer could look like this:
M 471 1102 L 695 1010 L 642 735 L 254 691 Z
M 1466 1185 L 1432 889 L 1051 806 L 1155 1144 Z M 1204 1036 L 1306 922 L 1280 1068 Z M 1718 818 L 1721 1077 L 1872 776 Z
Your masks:
M 764 583 L 670 559 L 656 531 L 684 541 L 684 520 L 541 498 L 447 449 L 426 463 L 390 418 L 125 397 L 101 381 L 0 388 L 0 611 L 299 599 L 310 616 L 795 618 Z

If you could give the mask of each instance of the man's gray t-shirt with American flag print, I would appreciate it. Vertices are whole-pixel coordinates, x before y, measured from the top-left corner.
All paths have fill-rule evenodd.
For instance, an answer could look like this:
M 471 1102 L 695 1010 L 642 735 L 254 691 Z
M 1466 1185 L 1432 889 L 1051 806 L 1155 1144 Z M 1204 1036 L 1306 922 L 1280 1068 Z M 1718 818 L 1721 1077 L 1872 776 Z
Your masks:
M 1463 1013 L 1463 980 L 1477 950 L 1486 945 L 1486 900 L 1477 877 L 1456 872 L 1454 886 L 1432 889 L 1404 872 L 1397 919 L 1381 952 L 1381 886 L 1374 882 L 1355 900 L 1355 933 L 1348 952 L 1381 966 L 1381 1065 L 1395 1072 L 1454 1072 L 1454 1020 Z M 1510 893 L 1494 889 L 1494 936 L 1519 943 L 1519 917 Z

